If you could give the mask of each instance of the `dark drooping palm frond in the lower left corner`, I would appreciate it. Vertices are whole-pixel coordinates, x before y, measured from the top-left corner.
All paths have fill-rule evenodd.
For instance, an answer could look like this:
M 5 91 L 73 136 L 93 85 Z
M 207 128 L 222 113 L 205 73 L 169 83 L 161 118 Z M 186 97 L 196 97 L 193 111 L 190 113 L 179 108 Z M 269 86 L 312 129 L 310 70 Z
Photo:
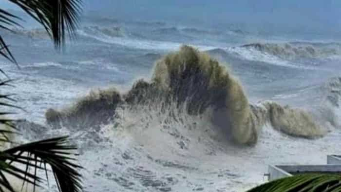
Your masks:
M 77 169 L 82 167 L 73 162 L 75 158 L 70 157 L 75 154 L 69 151 L 77 148 L 70 145 L 67 138 L 64 136 L 32 142 L 3 151 L 0 154 L 0 172 L 39 186 L 42 179 L 37 175 L 37 170 L 44 170 L 47 176 L 47 164 L 51 167 L 60 192 L 81 192 L 81 175 Z M 4 162 L 5 165 L 1 165 Z M 25 169 L 17 168 L 13 163 L 24 165 Z M 3 170 L 3 167 L 6 169 Z M 29 172 L 29 168 L 33 168 L 33 173 Z M 0 178 L 0 185 L 2 183 L 6 182 Z

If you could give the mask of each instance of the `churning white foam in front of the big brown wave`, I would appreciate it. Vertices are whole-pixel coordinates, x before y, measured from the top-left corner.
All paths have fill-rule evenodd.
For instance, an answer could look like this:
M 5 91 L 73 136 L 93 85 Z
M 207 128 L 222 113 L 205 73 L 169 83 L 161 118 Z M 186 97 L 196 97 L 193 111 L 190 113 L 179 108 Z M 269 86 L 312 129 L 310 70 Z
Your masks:
M 265 182 L 263 174 L 269 164 L 324 164 L 327 154 L 341 153 L 340 131 L 305 140 L 265 126 L 256 146 L 239 148 L 224 142 L 224 135 L 207 119 L 173 111 L 171 120 L 160 109 L 140 107 L 118 110 L 116 125 L 103 127 L 102 136 L 110 142 L 99 144 L 100 150 L 87 147 L 80 157 L 81 164 L 89 168 L 83 173 L 90 191 L 157 191 L 158 187 L 144 186 L 144 181 L 164 177 L 175 181 L 165 182 L 171 191 L 246 191 Z M 186 149 L 181 149 L 179 141 Z M 124 155 L 129 159 L 122 158 Z M 162 166 L 156 159 L 194 169 Z M 116 182 L 107 178 L 109 173 L 115 173 Z M 134 184 L 126 188 L 117 178 Z

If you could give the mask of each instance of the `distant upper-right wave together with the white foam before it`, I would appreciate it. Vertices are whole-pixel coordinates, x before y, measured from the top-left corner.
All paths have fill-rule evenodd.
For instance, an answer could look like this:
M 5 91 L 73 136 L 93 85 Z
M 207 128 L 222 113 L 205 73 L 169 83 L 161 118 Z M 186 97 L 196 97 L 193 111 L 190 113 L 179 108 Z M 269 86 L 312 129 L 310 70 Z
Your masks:
M 247 60 L 307 70 L 316 70 L 316 59 L 341 57 L 341 44 L 337 42 L 251 43 L 225 50 Z

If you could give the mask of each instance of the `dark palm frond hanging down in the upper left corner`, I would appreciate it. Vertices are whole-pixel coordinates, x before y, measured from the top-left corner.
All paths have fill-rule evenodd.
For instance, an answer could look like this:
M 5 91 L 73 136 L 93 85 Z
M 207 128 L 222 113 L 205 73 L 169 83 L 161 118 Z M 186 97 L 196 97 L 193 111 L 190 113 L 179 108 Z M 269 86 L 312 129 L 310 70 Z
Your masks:
M 8 0 L 19 6 L 30 17 L 41 24 L 59 49 L 65 44 L 65 34 L 75 37 L 82 0 Z M 12 31 L 13 27 L 22 27 L 22 19 L 0 8 L 0 29 Z M 0 55 L 17 64 L 9 46 L 0 36 Z M 17 64 L 19 67 L 19 65 Z M 5 74 L 1 69 L 0 73 Z M 5 74 L 6 75 L 6 74 Z

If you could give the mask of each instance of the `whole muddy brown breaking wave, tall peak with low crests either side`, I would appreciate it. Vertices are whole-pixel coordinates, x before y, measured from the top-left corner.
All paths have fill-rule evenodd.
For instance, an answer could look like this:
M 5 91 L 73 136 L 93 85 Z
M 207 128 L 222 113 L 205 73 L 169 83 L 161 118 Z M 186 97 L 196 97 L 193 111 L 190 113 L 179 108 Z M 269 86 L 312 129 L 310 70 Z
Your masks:
M 158 60 L 152 80 L 137 81 L 128 93 L 99 90 L 69 108 L 50 109 L 45 115 L 54 128 L 84 129 L 115 122 L 118 108 L 137 105 L 169 113 L 168 118 L 173 116 L 169 106 L 174 105 L 188 115 L 207 116 L 216 127 L 213 132 L 222 131 L 238 144 L 255 144 L 266 123 L 292 136 L 314 138 L 324 134 L 313 117 L 303 110 L 273 102 L 250 104 L 236 78 L 208 54 L 189 46 Z

